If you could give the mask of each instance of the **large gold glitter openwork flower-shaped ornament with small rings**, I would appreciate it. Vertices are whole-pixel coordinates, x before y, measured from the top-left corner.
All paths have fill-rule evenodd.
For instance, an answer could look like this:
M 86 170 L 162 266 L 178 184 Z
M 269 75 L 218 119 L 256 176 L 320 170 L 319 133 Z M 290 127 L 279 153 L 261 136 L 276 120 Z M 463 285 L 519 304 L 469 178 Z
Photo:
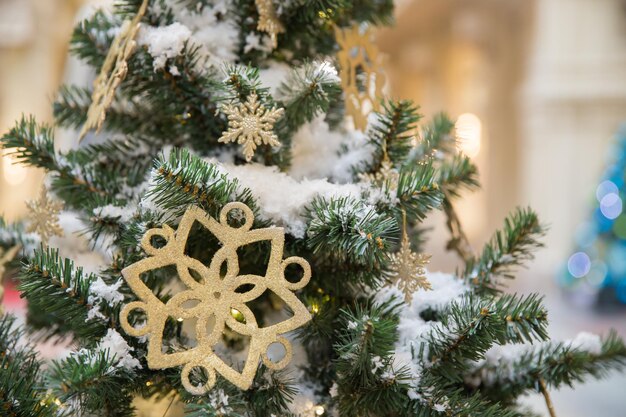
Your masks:
M 243 213 L 244 224 L 232 227 L 228 224 L 228 215 L 232 211 Z M 185 389 L 193 395 L 202 395 L 213 387 L 216 373 L 241 389 L 250 388 L 259 360 L 270 369 L 281 369 L 291 359 L 291 344 L 283 336 L 311 319 L 311 315 L 294 291 L 303 288 L 311 278 L 311 267 L 300 257 L 282 259 L 285 236 L 282 228 L 271 227 L 251 230 L 254 214 L 243 203 L 229 203 L 220 212 L 219 221 L 207 215 L 199 207 L 192 206 L 183 215 L 176 230 L 168 225 L 150 229 L 141 240 L 141 245 L 149 255 L 122 271 L 124 279 L 139 297 L 124 306 L 120 312 L 122 328 L 131 336 L 148 336 L 147 361 L 150 369 L 164 369 L 182 366 L 181 382 Z M 207 267 L 197 259 L 185 254 L 185 246 L 189 232 L 195 222 L 208 229 L 222 244 Z M 153 246 L 153 238 L 165 241 L 164 246 Z M 269 241 L 271 252 L 264 276 L 239 275 L 239 259 L 237 248 L 250 243 Z M 298 282 L 285 279 L 285 268 L 297 264 L 303 271 Z M 174 265 L 178 276 L 186 289 L 175 294 L 167 303 L 157 298 L 149 287 L 141 280 L 145 272 Z M 222 266 L 225 265 L 225 276 Z M 194 277 L 199 280 L 194 279 Z M 246 289 L 240 292 L 242 288 Z M 254 313 L 246 305 L 266 290 L 274 292 L 282 298 L 293 312 L 287 320 L 260 327 Z M 195 301 L 193 307 L 185 307 L 188 301 Z M 143 311 L 146 323 L 142 327 L 133 327 L 129 314 L 134 310 Z M 235 314 L 233 312 L 236 312 Z M 241 317 L 238 318 L 238 316 Z M 163 353 L 163 329 L 168 317 L 180 319 L 197 319 L 197 345 L 193 348 L 174 353 Z M 211 331 L 207 325 L 214 323 Z M 248 336 L 250 339 L 248 355 L 241 371 L 224 362 L 214 351 L 222 335 L 228 331 Z M 272 344 L 281 344 L 285 356 L 273 362 L 267 356 Z M 207 382 L 202 386 L 194 386 L 189 374 L 194 368 L 202 368 L 208 375 Z

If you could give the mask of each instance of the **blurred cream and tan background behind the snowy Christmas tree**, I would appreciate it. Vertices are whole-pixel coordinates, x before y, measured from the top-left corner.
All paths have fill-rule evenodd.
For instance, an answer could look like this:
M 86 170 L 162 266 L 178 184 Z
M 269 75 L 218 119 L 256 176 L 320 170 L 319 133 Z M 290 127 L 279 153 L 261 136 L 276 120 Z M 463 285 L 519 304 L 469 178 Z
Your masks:
M 21 114 L 51 121 L 54 92 L 75 71 L 67 64 L 67 42 L 76 16 L 87 3 L 106 1 L 0 0 L 0 134 Z M 593 226 L 593 210 L 604 197 L 598 184 L 607 158 L 620 152 L 613 137 L 626 123 L 626 1 L 403 0 L 379 45 L 391 94 L 420 104 L 426 119 L 448 112 L 460 146 L 480 168 L 482 190 L 456 204 L 474 247 L 516 206 L 531 206 L 550 231 L 546 248 L 512 290 L 546 294 L 556 337 L 610 327 L 626 336 L 619 299 L 598 298 L 610 265 L 601 279 L 577 289 L 582 296 L 565 297 L 559 288 L 564 276 L 580 275 L 577 266 L 586 275 L 599 265 L 570 256 L 597 235 L 580 241 L 581 227 Z M 1 164 L 0 212 L 19 218 L 42 176 L 6 155 Z M 619 212 L 602 210 L 598 221 L 621 211 L 619 199 Z M 431 269 L 453 271 L 442 224 L 442 218 L 430 220 Z M 626 245 L 621 253 L 626 261 Z M 623 416 L 625 386 L 626 377 L 613 376 L 579 386 L 576 394 L 562 390 L 554 394 L 557 413 Z M 545 414 L 541 401 L 528 398 Z

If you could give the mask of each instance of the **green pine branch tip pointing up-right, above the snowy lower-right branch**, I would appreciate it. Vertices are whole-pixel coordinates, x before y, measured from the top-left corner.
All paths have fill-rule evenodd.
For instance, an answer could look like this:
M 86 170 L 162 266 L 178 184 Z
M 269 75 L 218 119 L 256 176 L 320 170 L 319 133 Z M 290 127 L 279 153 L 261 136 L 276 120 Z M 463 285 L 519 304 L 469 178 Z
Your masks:
M 543 246 L 538 239 L 544 233 L 545 227 L 532 210 L 517 209 L 505 219 L 504 229 L 496 231 L 481 255 L 468 260 L 461 276 L 478 293 L 499 293 L 502 284 L 495 278 L 513 278 L 513 268 L 532 259 L 532 250 Z

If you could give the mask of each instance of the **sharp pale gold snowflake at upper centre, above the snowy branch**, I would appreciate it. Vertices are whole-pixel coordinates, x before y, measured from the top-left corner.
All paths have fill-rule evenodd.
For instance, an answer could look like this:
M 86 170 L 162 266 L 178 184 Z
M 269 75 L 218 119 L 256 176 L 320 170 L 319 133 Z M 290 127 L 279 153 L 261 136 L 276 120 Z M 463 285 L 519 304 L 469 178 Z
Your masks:
M 274 123 L 283 115 L 284 110 L 263 106 L 256 93 L 251 93 L 244 103 L 227 104 L 223 107 L 228 116 L 228 130 L 222 133 L 218 142 L 237 142 L 242 145 L 246 161 L 250 162 L 257 146 L 280 146 L 274 133 Z

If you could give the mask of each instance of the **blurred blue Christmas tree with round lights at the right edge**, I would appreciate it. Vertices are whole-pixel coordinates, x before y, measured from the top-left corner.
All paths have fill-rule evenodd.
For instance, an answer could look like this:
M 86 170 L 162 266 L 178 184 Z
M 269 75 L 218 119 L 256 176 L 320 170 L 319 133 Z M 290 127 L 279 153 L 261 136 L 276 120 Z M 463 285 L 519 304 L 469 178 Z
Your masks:
M 626 304 L 626 214 L 623 213 L 626 173 L 626 125 L 615 135 L 608 166 L 595 193 L 591 218 L 576 231 L 576 249 L 561 274 L 575 300 L 598 307 Z

